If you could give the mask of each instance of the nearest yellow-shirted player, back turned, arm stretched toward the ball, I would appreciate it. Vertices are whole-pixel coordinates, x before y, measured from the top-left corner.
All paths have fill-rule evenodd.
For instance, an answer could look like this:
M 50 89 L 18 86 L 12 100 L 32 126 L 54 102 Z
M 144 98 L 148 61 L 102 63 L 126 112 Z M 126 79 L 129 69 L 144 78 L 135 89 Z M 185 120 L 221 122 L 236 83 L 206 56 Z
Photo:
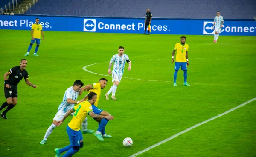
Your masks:
M 95 103 L 97 100 L 97 94 L 94 92 L 90 92 L 88 94 L 88 100 L 83 101 L 79 103 L 77 106 L 69 110 L 65 116 L 63 117 L 62 120 L 56 122 L 56 126 L 61 125 L 61 123 L 64 122 L 64 120 L 73 112 L 74 116 L 70 123 L 67 125 L 67 134 L 70 140 L 70 145 L 58 149 L 56 148 L 55 151 L 55 157 L 60 157 L 61 153 L 66 152 L 62 157 L 71 157 L 75 153 L 79 151 L 80 148 L 83 147 L 84 142 L 83 142 L 83 136 L 80 130 L 81 123 L 84 121 L 84 119 L 87 117 L 87 115 L 90 115 L 92 118 L 97 118 L 97 119 L 103 119 L 106 118 L 108 120 L 113 120 L 113 116 L 101 116 L 98 114 L 95 114 L 93 112 L 92 104 Z

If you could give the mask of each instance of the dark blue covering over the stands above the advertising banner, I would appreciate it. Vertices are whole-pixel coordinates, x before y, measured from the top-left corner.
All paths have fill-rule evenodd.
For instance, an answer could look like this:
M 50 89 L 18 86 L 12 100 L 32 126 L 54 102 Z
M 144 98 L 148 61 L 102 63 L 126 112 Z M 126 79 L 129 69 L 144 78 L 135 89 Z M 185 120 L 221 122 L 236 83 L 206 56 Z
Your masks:
M 145 17 L 253 19 L 256 0 L 39 0 L 25 14 Z

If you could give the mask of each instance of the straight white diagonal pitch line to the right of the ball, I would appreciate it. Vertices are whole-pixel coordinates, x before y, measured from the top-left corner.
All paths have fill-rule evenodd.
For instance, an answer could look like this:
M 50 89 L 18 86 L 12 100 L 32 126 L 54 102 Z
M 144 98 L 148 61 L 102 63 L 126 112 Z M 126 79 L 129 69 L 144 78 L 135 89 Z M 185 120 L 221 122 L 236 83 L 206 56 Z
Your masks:
M 234 107 L 234 108 L 231 108 L 230 110 L 225 111 L 225 112 L 223 112 L 222 114 L 219 114 L 219 115 L 217 115 L 217 116 L 215 116 L 215 117 L 212 117 L 212 118 L 210 118 L 210 119 L 208 119 L 208 120 L 205 120 L 205 121 L 203 121 L 203 122 L 201 122 L 201 123 L 198 123 L 198 124 L 196 124 L 195 126 L 192 126 L 192 127 L 190 127 L 190 128 L 187 128 L 186 130 L 183 130 L 183 131 L 181 131 L 181 132 L 179 132 L 179 133 L 177 133 L 177 134 L 175 134 L 175 135 L 172 135 L 171 137 L 169 137 L 169 138 L 167 138 L 167 139 L 165 139 L 165 140 L 162 140 L 162 141 L 160 141 L 159 143 L 156 143 L 156 144 L 154 144 L 154 145 L 152 145 L 152 146 L 150 146 L 150 147 L 148 147 L 148 148 L 145 148 L 144 150 L 139 151 L 139 152 L 137 152 L 137 153 L 135 153 L 135 154 L 133 154 L 133 155 L 131 155 L 131 156 L 129 156 L 129 157 L 136 157 L 136 156 L 138 156 L 138 155 L 144 153 L 145 151 L 149 151 L 150 149 L 155 148 L 155 147 L 157 147 L 157 146 L 159 146 L 159 145 L 161 145 L 161 144 L 163 144 L 163 143 L 166 143 L 166 142 L 168 142 L 169 140 L 172 140 L 172 139 L 174 139 L 175 137 L 177 137 L 177 136 L 179 136 L 179 135 L 181 135 L 181 134 L 184 134 L 184 133 L 186 133 L 186 132 L 192 130 L 193 128 L 196 128 L 196 127 L 198 127 L 198 126 L 201 126 L 201 125 L 203 125 L 204 123 L 207 123 L 207 122 L 209 122 L 209 121 L 211 121 L 211 120 L 214 120 L 214 119 L 216 119 L 216 118 L 218 118 L 218 117 L 221 117 L 221 116 L 223 116 L 223 115 L 225 115 L 225 114 L 228 114 L 228 113 L 230 113 L 230 112 L 236 110 L 237 108 L 240 108 L 240 107 L 242 107 L 242 106 L 244 106 L 244 105 L 246 105 L 246 104 L 248 104 L 248 103 L 250 103 L 250 102 L 252 102 L 252 101 L 254 101 L 254 100 L 256 100 L 256 97 L 253 98 L 253 99 L 251 99 L 251 100 L 248 100 L 247 102 L 244 102 L 244 103 L 240 104 L 239 106 L 236 106 L 236 107 Z

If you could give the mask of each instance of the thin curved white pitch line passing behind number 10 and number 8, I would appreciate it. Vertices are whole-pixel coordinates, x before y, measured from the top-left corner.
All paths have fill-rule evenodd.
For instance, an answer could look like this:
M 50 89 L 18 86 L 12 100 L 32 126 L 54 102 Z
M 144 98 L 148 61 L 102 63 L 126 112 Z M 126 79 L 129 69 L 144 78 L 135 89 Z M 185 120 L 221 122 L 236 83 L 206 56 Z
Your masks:
M 105 62 L 105 63 L 109 63 L 109 62 Z M 99 64 L 99 63 L 93 63 L 93 64 L 90 64 L 90 65 L 84 66 L 84 67 L 83 67 L 83 70 L 84 70 L 84 71 L 87 71 L 87 72 L 89 72 L 89 73 L 91 73 L 91 74 L 96 74 L 96 75 L 101 75 L 101 76 L 112 77 L 112 75 L 99 74 L 99 73 L 92 72 L 92 71 L 89 71 L 89 70 L 86 69 L 88 66 L 93 66 L 93 65 L 95 65 L 95 64 Z M 123 78 L 131 79 L 131 80 L 141 80 L 141 81 L 153 81 L 153 82 L 167 82 L 167 83 L 173 83 L 173 81 L 145 80 L 145 79 L 136 79 L 136 78 L 130 78 L 130 77 L 123 77 Z M 218 84 L 204 84 L 204 83 L 192 83 L 192 84 L 197 84 L 197 85 L 210 85 L 210 86 L 245 86 L 245 85 L 218 85 Z M 246 86 L 246 87 L 256 87 L 256 86 Z

